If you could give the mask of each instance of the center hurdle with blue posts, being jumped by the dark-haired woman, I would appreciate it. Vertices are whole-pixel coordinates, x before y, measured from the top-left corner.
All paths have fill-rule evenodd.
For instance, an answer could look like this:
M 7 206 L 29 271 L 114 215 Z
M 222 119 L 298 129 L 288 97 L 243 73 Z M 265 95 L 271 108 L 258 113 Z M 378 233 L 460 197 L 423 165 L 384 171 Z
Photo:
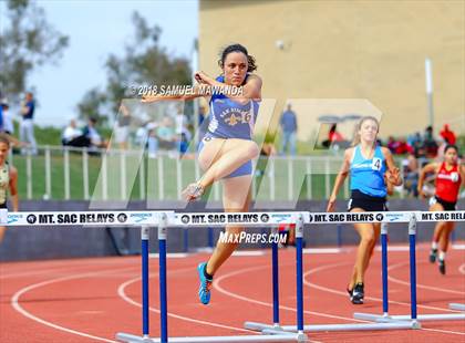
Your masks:
M 195 214 L 175 214 L 174 219 L 159 215 L 158 225 L 158 247 L 159 247 L 159 325 L 161 336 L 151 337 L 148 332 L 148 259 L 145 257 L 147 250 L 143 249 L 143 334 L 135 335 L 130 333 L 117 333 L 116 339 L 127 343 L 155 343 L 155 342 L 205 342 L 205 343 L 224 343 L 224 342 L 307 342 L 308 337 L 303 333 L 303 264 L 302 264 L 302 238 L 303 222 L 309 220 L 308 212 L 195 212 Z M 186 336 L 186 337 L 168 337 L 168 313 L 167 313 L 167 281 L 166 281 L 166 239 L 168 227 L 223 227 L 225 225 L 240 225 L 246 227 L 272 227 L 273 232 L 279 225 L 296 225 L 296 242 L 298 251 L 296 254 L 297 267 L 297 330 L 293 332 L 276 331 L 254 335 L 237 336 Z M 148 241 L 148 233 L 144 231 L 143 239 Z M 275 245 L 275 243 L 273 243 Z M 147 245 L 146 245 L 147 246 Z M 277 245 L 273 248 L 272 260 L 277 262 Z M 277 264 L 273 264 L 277 266 Z M 273 301 L 276 300 L 278 287 L 273 284 Z M 276 309 L 276 308 L 275 308 Z M 273 316 L 278 312 L 273 310 Z M 279 314 L 278 314 L 279 315 Z M 279 319 L 278 319 L 279 321 Z M 299 329 L 300 328 L 300 329 Z

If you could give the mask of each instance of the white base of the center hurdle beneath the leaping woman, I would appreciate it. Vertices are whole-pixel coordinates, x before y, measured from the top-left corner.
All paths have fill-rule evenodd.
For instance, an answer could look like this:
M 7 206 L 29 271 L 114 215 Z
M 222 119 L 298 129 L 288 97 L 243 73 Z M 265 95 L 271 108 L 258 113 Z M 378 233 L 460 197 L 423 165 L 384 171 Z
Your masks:
M 130 333 L 117 333 L 116 340 L 125 343 L 161 343 L 158 337 L 149 339 Z M 193 336 L 193 337 L 169 337 L 169 342 L 178 343 L 236 343 L 236 342 L 307 342 L 303 333 L 291 333 L 276 331 L 261 335 L 237 335 L 237 336 Z

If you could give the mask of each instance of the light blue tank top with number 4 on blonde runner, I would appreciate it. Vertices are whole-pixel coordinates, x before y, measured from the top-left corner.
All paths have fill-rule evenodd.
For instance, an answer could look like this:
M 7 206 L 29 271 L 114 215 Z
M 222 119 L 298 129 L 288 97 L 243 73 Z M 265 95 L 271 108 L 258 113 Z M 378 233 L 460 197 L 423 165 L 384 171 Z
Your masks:
M 386 172 L 386 162 L 381 150 L 376 146 L 373 158 L 365 159 L 360 149 L 360 145 L 353 148 L 352 160 L 350 164 L 350 188 L 361 193 L 384 198 L 388 194 L 384 183 L 384 173 Z

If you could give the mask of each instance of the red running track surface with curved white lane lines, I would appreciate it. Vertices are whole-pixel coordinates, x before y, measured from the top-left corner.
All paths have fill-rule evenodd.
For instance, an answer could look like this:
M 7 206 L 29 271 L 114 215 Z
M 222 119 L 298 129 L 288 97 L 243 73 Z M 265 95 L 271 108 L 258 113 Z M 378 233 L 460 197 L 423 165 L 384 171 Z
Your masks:
M 254 334 L 244 321 L 270 323 L 271 258 L 232 257 L 216 278 L 211 303 L 197 301 L 196 266 L 207 258 L 168 259 L 170 336 Z M 409 252 L 390 259 L 390 313 L 410 314 Z M 355 323 L 356 312 L 382 312 L 381 257 L 366 276 L 365 304 L 344 291 L 354 249 L 304 256 L 304 323 Z M 159 335 L 157 259 L 151 259 L 151 336 Z M 114 342 L 116 332 L 140 334 L 141 262 L 137 257 L 16 262 L 0 266 L 0 342 Z M 296 323 L 294 250 L 280 251 L 281 322 Z M 465 253 L 451 250 L 447 276 L 417 250 L 418 314 L 454 313 L 465 303 Z M 311 333 L 312 342 L 464 342 L 465 322 L 423 322 L 422 330 Z

